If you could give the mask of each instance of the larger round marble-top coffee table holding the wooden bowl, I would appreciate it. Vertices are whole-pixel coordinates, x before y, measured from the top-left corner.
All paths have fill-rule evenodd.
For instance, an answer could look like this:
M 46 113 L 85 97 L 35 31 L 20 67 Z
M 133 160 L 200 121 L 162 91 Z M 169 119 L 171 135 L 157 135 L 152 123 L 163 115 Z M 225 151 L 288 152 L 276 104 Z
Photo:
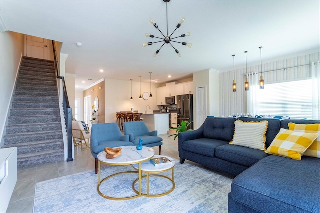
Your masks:
M 98 154 L 98 186 L 97 186 L 97 191 L 98 193 L 107 199 L 112 199 L 112 200 L 126 200 L 126 199 L 133 199 L 140 197 L 142 195 L 141 193 L 141 163 L 145 162 L 149 159 L 151 159 L 154 156 L 154 150 L 150 147 L 143 146 L 142 150 L 137 150 L 136 146 L 118 146 L 114 148 L 121 148 L 121 154 L 120 156 L 112 159 L 106 158 L 106 152 L 101 151 Z M 106 165 L 131 165 L 131 164 L 138 164 L 138 171 L 123 171 L 119 173 L 112 174 L 110 176 L 105 177 L 104 179 L 101 180 L 101 163 L 106 164 Z M 129 196 L 129 197 L 111 197 L 107 196 L 100 191 L 100 185 L 107 179 L 114 177 L 119 174 L 123 173 L 138 173 L 139 174 L 139 190 L 136 192 L 137 195 L 134 196 Z M 133 180 L 132 180 L 133 182 Z

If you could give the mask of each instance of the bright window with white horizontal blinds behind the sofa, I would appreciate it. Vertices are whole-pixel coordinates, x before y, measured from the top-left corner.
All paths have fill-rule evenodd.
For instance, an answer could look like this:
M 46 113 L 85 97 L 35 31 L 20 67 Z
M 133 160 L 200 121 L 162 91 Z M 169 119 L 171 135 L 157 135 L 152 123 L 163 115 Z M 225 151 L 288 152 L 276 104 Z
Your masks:
M 261 115 L 312 119 L 312 80 L 265 84 L 257 92 L 256 111 Z

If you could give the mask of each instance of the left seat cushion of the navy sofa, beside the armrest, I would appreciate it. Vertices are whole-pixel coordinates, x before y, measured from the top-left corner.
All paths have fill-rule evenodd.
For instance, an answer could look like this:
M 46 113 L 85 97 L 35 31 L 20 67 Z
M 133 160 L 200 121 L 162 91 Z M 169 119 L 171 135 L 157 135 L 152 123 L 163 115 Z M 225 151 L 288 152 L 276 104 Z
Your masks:
M 215 148 L 220 145 L 228 144 L 227 141 L 200 138 L 196 140 L 187 140 L 182 144 L 182 148 L 185 151 L 214 157 Z

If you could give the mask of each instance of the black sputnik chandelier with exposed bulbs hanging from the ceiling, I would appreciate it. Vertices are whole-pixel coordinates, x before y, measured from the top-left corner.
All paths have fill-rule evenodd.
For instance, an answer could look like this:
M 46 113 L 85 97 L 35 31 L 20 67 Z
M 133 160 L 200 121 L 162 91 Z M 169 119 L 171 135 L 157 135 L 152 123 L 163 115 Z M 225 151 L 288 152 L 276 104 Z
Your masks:
M 174 46 L 172 45 L 171 42 L 181 43 L 182 45 L 188 46 L 188 47 L 191 48 L 191 46 L 192 46 L 191 43 L 178 42 L 178 41 L 173 40 L 173 39 L 178 38 L 178 37 L 190 36 L 190 32 L 187 32 L 187 33 L 185 33 L 185 34 L 182 34 L 181 36 L 178 36 L 178 37 L 173 37 L 173 38 L 171 38 L 171 36 L 172 36 L 173 33 L 175 32 L 175 30 L 178 29 L 178 28 L 182 25 L 182 23 L 184 22 L 185 19 L 182 18 L 181 21 L 178 23 L 178 25 L 176 25 L 176 28 L 175 28 L 174 31 L 171 33 L 171 35 L 168 36 L 168 2 L 170 2 L 170 0 L 163 0 L 163 1 L 166 3 L 166 35 L 164 35 L 164 34 L 161 32 L 161 30 L 159 29 L 158 25 L 156 25 L 156 23 L 154 22 L 154 20 L 150 19 L 150 23 L 151 23 L 155 28 L 157 28 L 157 29 L 161 32 L 161 34 L 163 35 L 164 38 L 156 37 L 156 36 L 154 36 L 154 35 L 150 35 L 150 34 L 148 34 L 148 33 L 145 33 L 145 36 L 146 36 L 146 37 L 158 38 L 158 39 L 161 39 L 161 40 L 160 40 L 160 41 L 156 41 L 156 42 L 143 43 L 142 46 L 145 47 L 145 46 L 152 45 L 153 43 L 163 42 L 162 46 L 163 46 L 164 44 L 170 44 L 170 45 L 173 47 L 173 49 L 175 50 L 175 52 L 178 54 L 178 56 L 181 57 L 181 54 L 179 53 L 179 51 L 178 51 L 176 48 L 174 48 Z M 156 50 L 156 52 L 153 54 L 153 57 L 156 57 L 156 56 L 157 56 L 157 54 L 159 53 L 159 51 L 160 51 L 160 49 L 162 48 L 162 46 L 161 46 L 158 50 Z

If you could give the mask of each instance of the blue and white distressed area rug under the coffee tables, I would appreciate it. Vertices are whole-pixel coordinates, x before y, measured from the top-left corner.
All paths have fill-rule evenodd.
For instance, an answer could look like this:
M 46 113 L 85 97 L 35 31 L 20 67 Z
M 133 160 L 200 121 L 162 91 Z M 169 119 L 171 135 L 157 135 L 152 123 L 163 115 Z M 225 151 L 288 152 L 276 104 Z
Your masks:
M 132 166 L 104 166 L 101 179 L 122 171 L 135 171 Z M 171 177 L 171 171 L 161 173 Z M 107 179 L 100 191 L 108 196 L 133 196 L 137 173 L 125 173 Z M 188 163 L 176 163 L 174 190 L 161 197 L 138 197 L 109 200 L 97 192 L 98 175 L 94 170 L 36 183 L 34 212 L 227 212 L 227 195 L 232 179 Z M 146 178 L 142 179 L 146 192 Z M 151 176 L 149 193 L 157 194 L 172 187 L 170 180 Z M 135 184 L 138 189 L 138 183 Z

